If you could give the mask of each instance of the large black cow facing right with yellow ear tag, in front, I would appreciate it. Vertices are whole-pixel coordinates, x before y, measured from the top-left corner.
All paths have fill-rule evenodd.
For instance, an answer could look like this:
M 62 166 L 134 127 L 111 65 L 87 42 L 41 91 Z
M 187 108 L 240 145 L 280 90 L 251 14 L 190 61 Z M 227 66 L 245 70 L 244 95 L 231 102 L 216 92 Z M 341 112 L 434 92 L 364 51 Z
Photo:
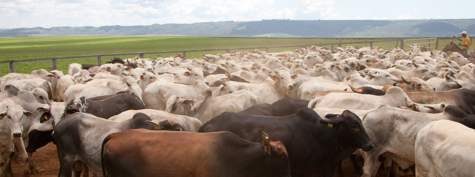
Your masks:
M 331 176 L 342 159 L 358 148 L 369 151 L 374 145 L 356 114 L 345 110 L 341 115 L 326 117 L 328 119 L 322 119 L 310 108 L 289 116 L 224 112 L 204 123 L 198 131 L 226 130 L 259 142 L 259 137 L 252 132 L 265 129 L 269 136 L 287 147 L 292 176 Z

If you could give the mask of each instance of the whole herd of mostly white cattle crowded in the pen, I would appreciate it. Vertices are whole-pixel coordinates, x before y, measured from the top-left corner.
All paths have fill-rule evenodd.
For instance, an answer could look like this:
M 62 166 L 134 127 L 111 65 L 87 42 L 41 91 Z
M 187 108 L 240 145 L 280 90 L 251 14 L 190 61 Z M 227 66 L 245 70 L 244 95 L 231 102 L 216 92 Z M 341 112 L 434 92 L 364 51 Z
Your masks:
M 58 176 L 473 176 L 475 64 L 459 53 L 302 47 L 111 59 L 0 77 L 0 175 L 53 142 Z M 343 176 L 341 170 L 338 175 Z

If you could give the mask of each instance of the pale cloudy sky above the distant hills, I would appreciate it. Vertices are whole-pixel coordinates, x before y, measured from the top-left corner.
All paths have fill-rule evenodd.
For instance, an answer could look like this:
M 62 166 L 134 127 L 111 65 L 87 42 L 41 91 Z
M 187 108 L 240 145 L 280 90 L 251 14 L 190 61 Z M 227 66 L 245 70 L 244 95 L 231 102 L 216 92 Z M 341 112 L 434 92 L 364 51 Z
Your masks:
M 0 29 L 219 21 L 471 19 L 475 1 L 2 0 Z

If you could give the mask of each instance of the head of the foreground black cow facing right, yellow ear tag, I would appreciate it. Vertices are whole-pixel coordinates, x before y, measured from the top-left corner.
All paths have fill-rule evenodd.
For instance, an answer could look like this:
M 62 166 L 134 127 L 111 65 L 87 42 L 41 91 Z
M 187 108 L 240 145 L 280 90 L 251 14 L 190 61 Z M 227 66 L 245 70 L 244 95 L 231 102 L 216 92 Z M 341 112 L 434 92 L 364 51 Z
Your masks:
M 339 128 L 340 136 L 346 140 L 343 144 L 344 147 L 361 148 L 363 151 L 370 151 L 374 148 L 361 119 L 355 113 L 345 110 L 341 115 L 327 114 L 325 118 L 327 119 L 320 120 L 320 123 L 331 128 Z

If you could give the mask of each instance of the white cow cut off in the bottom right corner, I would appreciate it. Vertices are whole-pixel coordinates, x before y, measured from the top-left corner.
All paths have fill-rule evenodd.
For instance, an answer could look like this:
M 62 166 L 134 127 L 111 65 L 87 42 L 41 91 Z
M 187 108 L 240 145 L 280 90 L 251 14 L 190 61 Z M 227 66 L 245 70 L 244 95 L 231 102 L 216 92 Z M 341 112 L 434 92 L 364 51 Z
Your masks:
M 475 130 L 451 120 L 420 129 L 415 139 L 417 176 L 475 176 Z

